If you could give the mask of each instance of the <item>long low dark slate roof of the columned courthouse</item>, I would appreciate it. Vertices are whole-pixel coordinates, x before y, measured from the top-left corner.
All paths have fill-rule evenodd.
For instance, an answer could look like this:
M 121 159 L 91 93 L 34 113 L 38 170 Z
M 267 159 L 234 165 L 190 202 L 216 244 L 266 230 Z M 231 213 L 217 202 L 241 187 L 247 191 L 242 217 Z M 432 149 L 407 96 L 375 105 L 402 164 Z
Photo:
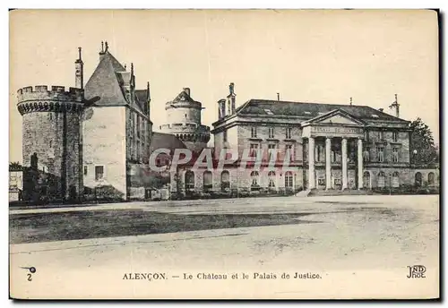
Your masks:
M 394 121 L 402 123 L 408 122 L 368 106 L 302 103 L 267 99 L 250 99 L 246 102 L 246 104 L 238 107 L 236 112 L 240 115 L 269 115 L 264 109 L 271 110 L 271 113 L 277 116 L 300 116 L 306 119 L 312 119 L 332 110 L 340 109 L 351 116 L 367 122 L 371 120 Z

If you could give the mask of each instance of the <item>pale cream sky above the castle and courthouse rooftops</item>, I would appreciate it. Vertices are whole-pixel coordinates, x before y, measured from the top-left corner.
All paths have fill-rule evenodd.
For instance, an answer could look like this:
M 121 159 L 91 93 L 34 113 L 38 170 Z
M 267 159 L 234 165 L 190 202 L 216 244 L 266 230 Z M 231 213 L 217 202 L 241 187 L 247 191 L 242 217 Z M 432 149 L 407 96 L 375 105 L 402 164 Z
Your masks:
M 202 124 L 235 83 L 250 98 L 383 107 L 398 93 L 401 118 L 418 116 L 438 142 L 438 26 L 432 11 L 13 11 L 10 13 L 10 161 L 22 162 L 16 91 L 74 86 L 82 47 L 84 82 L 101 40 L 134 63 L 138 89 L 151 82 L 151 121 L 183 88 L 202 102 Z

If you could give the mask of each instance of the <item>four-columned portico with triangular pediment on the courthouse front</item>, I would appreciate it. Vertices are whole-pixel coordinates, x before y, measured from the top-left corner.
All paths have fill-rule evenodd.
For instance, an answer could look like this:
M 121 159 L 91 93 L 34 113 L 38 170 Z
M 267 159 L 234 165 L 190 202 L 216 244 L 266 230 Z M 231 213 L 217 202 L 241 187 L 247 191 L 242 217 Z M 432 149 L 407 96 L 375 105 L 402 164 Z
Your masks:
M 307 189 L 363 188 L 364 125 L 339 109 L 302 124 Z

